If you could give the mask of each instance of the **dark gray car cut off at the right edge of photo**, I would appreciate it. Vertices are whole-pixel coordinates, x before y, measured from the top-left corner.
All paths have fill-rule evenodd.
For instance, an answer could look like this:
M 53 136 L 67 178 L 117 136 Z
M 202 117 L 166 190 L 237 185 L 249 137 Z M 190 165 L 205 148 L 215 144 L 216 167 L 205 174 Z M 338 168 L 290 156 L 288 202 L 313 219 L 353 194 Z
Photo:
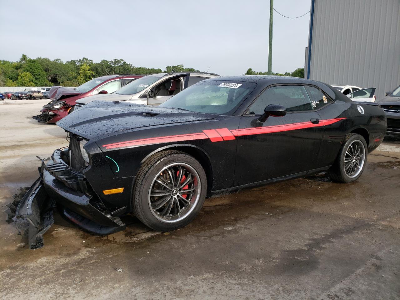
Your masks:
M 392 92 L 386 92 L 385 97 L 378 101 L 388 118 L 387 134 L 400 135 L 400 86 Z

